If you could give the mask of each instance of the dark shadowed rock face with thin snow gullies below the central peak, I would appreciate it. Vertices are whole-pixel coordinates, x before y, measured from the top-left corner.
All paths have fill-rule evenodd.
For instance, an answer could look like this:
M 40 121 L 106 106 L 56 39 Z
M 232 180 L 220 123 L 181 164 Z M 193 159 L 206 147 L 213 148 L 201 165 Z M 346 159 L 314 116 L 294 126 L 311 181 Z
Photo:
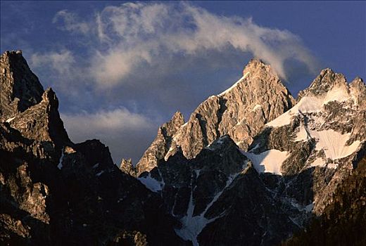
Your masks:
M 193 245 L 274 245 L 298 230 L 229 136 L 194 159 L 161 160 L 139 180 L 161 195 L 182 222 L 177 235 Z

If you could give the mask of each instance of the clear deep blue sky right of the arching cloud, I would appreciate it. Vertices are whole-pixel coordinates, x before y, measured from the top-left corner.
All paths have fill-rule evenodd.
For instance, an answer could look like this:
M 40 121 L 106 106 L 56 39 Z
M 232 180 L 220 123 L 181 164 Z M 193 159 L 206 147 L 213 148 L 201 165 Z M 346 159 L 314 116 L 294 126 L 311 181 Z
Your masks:
M 324 67 L 331 67 L 348 79 L 366 77 L 365 1 L 232 1 L 199 5 L 220 15 L 252 16 L 259 25 L 289 30 L 303 39 Z

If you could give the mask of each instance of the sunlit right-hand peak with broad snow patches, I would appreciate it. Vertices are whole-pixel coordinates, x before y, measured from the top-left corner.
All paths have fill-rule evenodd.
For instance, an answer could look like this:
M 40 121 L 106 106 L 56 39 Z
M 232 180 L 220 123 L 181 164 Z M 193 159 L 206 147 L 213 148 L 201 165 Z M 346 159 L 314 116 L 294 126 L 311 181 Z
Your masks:
M 365 95 L 361 79 L 347 84 L 343 75 L 322 70 L 310 87 L 299 93 L 294 108 L 266 124 L 253 141 L 256 148 L 249 151 L 254 155 L 249 155 L 285 153 L 281 173 L 295 176 L 291 181 L 295 183 L 297 174 L 313 170 L 308 187 L 313 200 L 296 201 L 302 206 L 313 202 L 313 213 L 322 214 L 338 184 L 365 155 Z

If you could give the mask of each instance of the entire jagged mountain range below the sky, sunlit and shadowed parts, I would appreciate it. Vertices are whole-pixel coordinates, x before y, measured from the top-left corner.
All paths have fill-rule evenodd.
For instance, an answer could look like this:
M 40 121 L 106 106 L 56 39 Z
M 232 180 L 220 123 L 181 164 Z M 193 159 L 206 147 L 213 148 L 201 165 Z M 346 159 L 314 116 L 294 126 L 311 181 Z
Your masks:
M 330 69 L 294 99 L 270 65 L 253 59 L 187 122 L 176 112 L 136 167 L 122 160 L 118 169 L 99 141 L 70 141 L 55 93 L 19 51 L 6 52 L 0 240 L 362 245 L 365 99 L 362 79 L 348 84 Z

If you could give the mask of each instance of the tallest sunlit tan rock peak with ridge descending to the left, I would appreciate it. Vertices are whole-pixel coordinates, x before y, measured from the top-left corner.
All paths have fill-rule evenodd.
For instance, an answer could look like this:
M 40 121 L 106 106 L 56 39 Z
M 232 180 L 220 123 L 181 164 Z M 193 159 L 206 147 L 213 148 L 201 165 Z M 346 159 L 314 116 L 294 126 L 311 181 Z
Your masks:
M 246 150 L 265 123 L 286 112 L 292 105 L 294 98 L 270 65 L 253 59 L 246 65 L 243 77 L 236 84 L 201 103 L 186 124 L 181 121 L 180 125 L 176 125 L 175 131 L 171 131 L 174 134 L 169 136 L 171 141 L 168 145 L 165 141 L 158 141 L 163 139 L 159 129 L 156 140 L 137 163 L 138 174 L 151 170 L 156 166 L 156 160 L 167 160 L 178 150 L 191 159 L 225 134 Z

